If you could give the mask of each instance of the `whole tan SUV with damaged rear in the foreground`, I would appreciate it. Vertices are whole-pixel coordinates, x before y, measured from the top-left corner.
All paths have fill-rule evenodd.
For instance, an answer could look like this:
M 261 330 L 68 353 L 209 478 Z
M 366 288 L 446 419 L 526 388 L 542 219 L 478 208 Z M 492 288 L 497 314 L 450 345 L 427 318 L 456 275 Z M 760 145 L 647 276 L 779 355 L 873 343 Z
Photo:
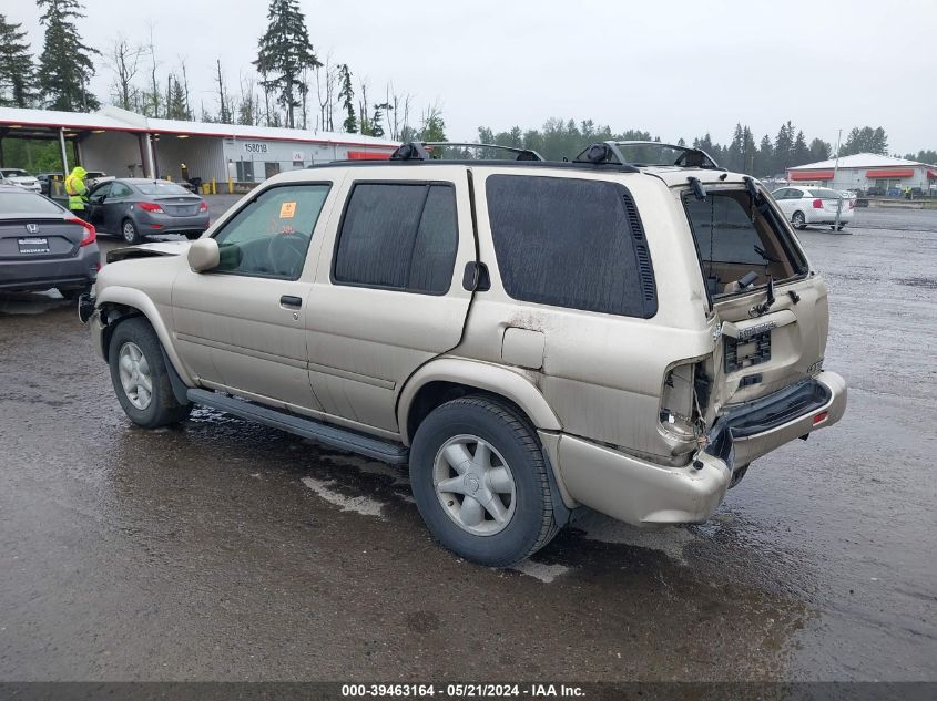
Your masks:
M 132 422 L 202 404 L 409 464 L 472 561 L 517 563 L 585 506 L 702 523 L 752 461 L 836 423 L 846 385 L 784 213 L 674 148 L 635 167 L 611 143 L 570 163 L 408 144 L 284 173 L 196 241 L 111 251 L 79 313 Z

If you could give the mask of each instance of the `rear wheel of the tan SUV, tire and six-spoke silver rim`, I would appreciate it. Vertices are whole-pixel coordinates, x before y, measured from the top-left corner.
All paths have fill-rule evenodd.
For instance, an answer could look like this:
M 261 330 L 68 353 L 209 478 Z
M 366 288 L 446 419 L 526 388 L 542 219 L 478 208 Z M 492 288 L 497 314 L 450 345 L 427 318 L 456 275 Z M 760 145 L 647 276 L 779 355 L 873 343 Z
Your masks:
M 437 408 L 410 453 L 414 498 L 430 533 L 488 567 L 513 565 L 557 534 L 547 470 L 527 420 L 486 396 Z

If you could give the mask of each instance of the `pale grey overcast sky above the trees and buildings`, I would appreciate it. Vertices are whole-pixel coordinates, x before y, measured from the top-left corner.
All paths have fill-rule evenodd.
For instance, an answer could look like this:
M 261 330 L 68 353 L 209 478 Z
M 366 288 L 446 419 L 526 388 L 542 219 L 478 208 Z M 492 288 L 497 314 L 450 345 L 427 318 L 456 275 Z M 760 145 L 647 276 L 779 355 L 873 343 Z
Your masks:
M 417 105 L 438 101 L 447 135 L 479 125 L 539 127 L 551 116 L 642 128 L 664 141 L 736 122 L 756 140 L 791 120 L 835 143 L 838 127 L 884 126 L 889 151 L 937 147 L 937 2 L 656 0 L 301 0 L 313 43 L 347 62 L 377 97 L 393 81 Z M 266 0 L 85 0 L 79 30 L 106 52 L 154 28 L 161 71 L 186 59 L 197 110 L 221 58 L 236 90 L 266 27 Z M 4 0 L 33 50 L 33 0 Z M 92 81 L 102 97 L 112 74 Z

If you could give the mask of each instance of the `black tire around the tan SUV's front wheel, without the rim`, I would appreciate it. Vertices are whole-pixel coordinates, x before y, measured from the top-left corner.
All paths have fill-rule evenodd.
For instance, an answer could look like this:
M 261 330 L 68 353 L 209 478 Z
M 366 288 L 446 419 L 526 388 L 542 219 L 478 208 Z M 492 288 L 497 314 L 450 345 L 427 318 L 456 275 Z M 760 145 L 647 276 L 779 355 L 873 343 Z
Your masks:
M 149 370 L 152 393 L 149 403 L 143 408 L 134 405 L 121 381 L 121 351 L 128 343 L 134 344 L 142 351 Z M 146 319 L 134 317 L 118 324 L 111 336 L 108 359 L 111 367 L 111 382 L 118 401 L 133 423 L 144 429 L 159 429 L 179 423 L 189 415 L 192 404 L 180 404 L 176 401 L 163 360 L 160 339 Z

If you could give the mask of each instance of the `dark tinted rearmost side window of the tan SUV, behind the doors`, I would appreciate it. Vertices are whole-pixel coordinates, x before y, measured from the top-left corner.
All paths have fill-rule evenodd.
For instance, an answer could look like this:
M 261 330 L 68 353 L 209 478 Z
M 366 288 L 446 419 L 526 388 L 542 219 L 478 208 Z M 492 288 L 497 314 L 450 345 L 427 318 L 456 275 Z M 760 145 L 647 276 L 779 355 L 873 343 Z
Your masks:
M 486 194 L 508 295 L 627 317 L 656 313 L 644 230 L 623 185 L 492 175 Z

